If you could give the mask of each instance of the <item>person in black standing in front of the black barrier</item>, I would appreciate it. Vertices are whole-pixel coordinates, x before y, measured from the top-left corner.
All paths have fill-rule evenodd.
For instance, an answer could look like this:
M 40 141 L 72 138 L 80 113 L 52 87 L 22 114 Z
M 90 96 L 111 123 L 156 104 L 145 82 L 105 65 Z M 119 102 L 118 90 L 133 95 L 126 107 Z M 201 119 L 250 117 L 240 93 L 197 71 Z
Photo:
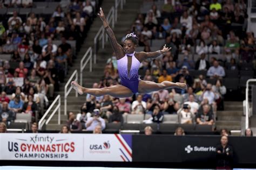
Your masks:
M 217 169 L 232 169 L 233 147 L 228 145 L 228 137 L 220 138 L 220 145 L 216 146 Z

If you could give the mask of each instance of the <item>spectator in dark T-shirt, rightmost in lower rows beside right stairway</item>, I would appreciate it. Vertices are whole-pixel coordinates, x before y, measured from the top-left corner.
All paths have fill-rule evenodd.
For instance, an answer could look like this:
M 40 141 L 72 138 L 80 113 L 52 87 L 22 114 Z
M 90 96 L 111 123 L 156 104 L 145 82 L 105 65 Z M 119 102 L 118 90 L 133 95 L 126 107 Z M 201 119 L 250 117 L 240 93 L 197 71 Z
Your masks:
M 203 112 L 197 114 L 197 124 L 200 125 L 213 125 L 213 117 L 210 112 L 210 105 L 203 106 Z

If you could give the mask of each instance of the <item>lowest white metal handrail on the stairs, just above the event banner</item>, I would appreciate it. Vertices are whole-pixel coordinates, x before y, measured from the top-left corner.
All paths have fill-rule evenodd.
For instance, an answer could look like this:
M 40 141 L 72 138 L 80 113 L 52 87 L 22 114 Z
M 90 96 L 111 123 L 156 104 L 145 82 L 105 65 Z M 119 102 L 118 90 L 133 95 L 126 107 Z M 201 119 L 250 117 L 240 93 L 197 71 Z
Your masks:
M 55 103 L 58 101 L 58 105 L 56 106 L 56 108 L 53 110 L 52 114 L 50 115 L 50 117 L 45 121 L 45 117 L 49 114 L 49 112 L 51 111 L 53 105 L 55 105 Z M 52 104 L 50 105 L 50 107 L 46 110 L 44 116 L 40 119 L 39 123 L 38 123 L 38 129 L 42 130 L 43 125 L 44 124 L 48 124 L 52 118 L 53 115 L 55 115 L 56 111 L 58 110 L 58 124 L 60 125 L 60 95 L 58 95 L 55 100 L 52 102 Z

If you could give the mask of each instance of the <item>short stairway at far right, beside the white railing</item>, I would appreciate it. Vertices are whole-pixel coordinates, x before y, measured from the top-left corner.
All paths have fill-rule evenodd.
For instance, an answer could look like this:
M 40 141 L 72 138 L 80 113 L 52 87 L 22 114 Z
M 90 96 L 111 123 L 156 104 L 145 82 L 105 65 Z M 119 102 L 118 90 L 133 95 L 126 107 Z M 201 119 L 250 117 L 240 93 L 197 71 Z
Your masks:
M 224 111 L 217 111 L 217 130 L 241 130 L 242 102 L 225 101 L 224 108 Z

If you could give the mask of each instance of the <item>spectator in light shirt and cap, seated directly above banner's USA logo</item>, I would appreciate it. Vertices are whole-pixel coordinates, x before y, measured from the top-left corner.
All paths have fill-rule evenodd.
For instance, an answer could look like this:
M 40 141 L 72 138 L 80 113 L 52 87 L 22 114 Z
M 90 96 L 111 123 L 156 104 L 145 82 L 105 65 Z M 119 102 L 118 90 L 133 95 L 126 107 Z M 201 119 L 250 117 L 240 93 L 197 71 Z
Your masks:
M 86 130 L 87 131 L 93 131 L 97 125 L 100 125 L 102 127 L 102 130 L 105 129 L 106 124 L 105 120 L 101 118 L 99 109 L 94 109 L 93 110 L 94 116 L 88 118 L 87 123 L 86 123 Z

